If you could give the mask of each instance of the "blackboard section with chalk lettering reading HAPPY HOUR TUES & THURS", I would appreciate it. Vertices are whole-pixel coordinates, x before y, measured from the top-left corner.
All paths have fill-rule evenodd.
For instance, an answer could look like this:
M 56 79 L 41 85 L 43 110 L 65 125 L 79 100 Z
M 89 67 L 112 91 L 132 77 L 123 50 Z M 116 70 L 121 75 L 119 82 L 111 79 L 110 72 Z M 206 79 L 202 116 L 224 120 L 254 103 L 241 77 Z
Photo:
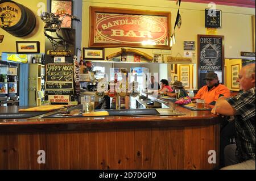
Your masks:
M 46 81 L 73 81 L 73 65 L 48 64 L 46 65 Z

